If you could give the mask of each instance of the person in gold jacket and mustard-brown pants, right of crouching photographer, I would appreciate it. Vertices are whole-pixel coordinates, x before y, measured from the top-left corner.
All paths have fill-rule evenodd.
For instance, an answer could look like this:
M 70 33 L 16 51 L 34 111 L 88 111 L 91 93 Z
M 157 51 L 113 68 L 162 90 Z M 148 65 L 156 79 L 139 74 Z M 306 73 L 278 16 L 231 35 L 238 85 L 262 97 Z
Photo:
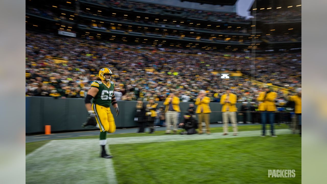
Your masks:
M 206 123 L 206 133 L 210 134 L 210 127 L 209 127 L 209 123 L 210 123 L 210 98 L 206 96 L 206 92 L 204 90 L 201 90 L 197 100 L 195 101 L 195 104 L 198 106 L 196 113 L 198 114 L 198 121 L 199 121 L 199 125 L 198 125 L 198 129 L 199 129 L 199 134 L 202 134 L 202 122 Z

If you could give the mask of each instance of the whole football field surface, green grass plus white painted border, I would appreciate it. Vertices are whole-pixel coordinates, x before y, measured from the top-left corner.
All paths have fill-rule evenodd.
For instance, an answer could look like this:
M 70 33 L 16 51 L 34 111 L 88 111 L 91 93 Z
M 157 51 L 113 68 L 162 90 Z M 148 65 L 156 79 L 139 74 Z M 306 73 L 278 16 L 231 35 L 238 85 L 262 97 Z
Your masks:
M 109 135 L 112 141 L 148 141 L 130 143 L 126 139 L 125 143 L 111 144 L 112 159 L 99 158 L 97 136 L 26 143 L 26 154 L 31 153 L 26 156 L 26 183 L 301 183 L 301 137 L 287 130 L 280 130 L 277 138 L 259 137 L 255 130 L 260 128 L 239 127 L 240 132 L 255 132 L 252 137 L 241 137 L 251 133 L 244 132 L 225 138 L 220 134 L 221 127 L 213 128 L 213 133 L 219 132 L 214 139 L 205 139 L 214 135 L 174 135 L 177 139 L 204 138 L 180 141 L 167 141 L 173 135 L 163 136 L 163 132 Z M 151 142 L 158 138 L 167 142 Z M 269 169 L 294 169 L 296 177 L 271 178 Z M 112 173 L 116 179 L 112 179 Z

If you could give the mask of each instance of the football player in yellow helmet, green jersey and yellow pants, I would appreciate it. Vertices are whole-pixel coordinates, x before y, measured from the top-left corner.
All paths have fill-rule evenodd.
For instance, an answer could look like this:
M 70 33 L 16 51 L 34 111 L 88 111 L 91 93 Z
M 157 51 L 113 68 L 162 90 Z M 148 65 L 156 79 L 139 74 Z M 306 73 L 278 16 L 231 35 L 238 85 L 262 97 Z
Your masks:
M 87 92 L 85 107 L 90 115 L 88 118 L 90 124 L 83 125 L 92 125 L 92 121 L 96 120 L 96 127 L 100 129 L 101 157 L 112 158 L 113 156 L 107 155 L 105 145 L 107 144 L 107 132 L 113 133 L 116 130 L 110 105 L 115 108 L 116 116 L 119 114 L 118 104 L 113 94 L 115 84 L 112 82 L 112 72 L 109 68 L 102 68 L 99 71 L 99 78 L 101 81 L 94 81 Z M 93 103 L 91 104 L 92 99 Z

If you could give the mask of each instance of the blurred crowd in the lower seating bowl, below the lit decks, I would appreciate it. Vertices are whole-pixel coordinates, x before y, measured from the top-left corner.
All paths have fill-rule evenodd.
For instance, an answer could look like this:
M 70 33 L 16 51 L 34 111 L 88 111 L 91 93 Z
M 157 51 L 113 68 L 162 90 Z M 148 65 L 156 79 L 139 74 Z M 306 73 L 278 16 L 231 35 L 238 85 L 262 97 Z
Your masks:
M 168 53 L 172 50 L 177 53 Z M 258 81 L 301 87 L 301 59 L 297 59 L 301 54 L 260 55 L 263 58 L 257 59 L 255 65 L 245 58 L 248 55 L 198 49 L 163 51 L 149 46 L 27 32 L 26 95 L 83 98 L 102 67 L 110 67 L 114 73 L 117 100 L 143 97 L 146 101 L 154 97 L 156 101 L 164 101 L 174 92 L 181 101 L 194 101 L 199 90 L 204 89 L 212 101 L 219 102 L 222 89 L 228 87 L 238 96 L 238 101 L 249 102 L 261 91 L 260 83 L 245 78 L 221 79 L 213 71 L 240 71 L 247 75 L 255 71 Z M 283 91 L 278 93 L 283 99 Z

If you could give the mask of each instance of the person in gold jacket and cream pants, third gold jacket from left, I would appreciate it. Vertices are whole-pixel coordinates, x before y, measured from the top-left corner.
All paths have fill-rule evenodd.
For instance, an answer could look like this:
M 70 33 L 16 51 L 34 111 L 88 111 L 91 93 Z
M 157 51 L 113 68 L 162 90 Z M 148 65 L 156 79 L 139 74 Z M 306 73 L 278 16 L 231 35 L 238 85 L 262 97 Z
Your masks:
M 237 136 L 237 122 L 236 122 L 236 95 L 231 93 L 231 90 L 226 89 L 226 93 L 221 96 L 220 104 L 222 104 L 221 111 L 224 122 L 224 136 L 228 134 L 228 123 L 229 120 L 233 126 L 233 136 Z

